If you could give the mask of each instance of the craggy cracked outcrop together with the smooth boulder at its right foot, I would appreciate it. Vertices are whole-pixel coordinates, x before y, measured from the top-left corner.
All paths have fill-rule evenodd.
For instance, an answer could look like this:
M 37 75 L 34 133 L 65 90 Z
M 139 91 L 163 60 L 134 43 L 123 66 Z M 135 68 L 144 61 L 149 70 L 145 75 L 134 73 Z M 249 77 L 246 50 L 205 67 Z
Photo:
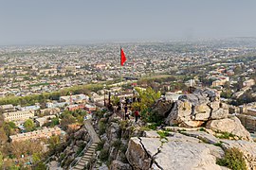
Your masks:
M 182 95 L 173 106 L 165 120 L 167 125 L 200 127 L 207 124 L 214 131 L 229 132 L 244 140 L 251 140 L 240 120 L 230 117 L 229 106 L 220 102 L 219 95 L 209 89 Z

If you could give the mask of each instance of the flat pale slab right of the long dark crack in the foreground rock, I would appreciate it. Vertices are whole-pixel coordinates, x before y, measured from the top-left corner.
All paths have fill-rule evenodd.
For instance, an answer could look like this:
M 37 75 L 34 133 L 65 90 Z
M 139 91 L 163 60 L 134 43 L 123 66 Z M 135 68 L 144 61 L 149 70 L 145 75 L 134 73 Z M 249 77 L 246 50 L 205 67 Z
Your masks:
M 155 156 L 155 162 L 162 169 L 217 170 L 221 167 L 216 164 L 216 153 L 224 155 L 223 150 L 214 145 L 172 140 L 163 144 L 161 152 Z

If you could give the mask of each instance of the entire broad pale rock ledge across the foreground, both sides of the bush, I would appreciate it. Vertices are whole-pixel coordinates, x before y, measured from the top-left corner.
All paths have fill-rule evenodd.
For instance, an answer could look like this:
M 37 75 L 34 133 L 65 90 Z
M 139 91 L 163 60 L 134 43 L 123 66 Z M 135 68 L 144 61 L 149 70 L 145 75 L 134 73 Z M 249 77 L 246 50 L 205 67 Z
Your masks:
M 167 127 L 169 128 L 169 127 Z M 173 129 L 173 127 L 170 127 Z M 255 169 L 256 144 L 243 140 L 219 139 L 208 131 L 195 128 L 176 128 L 165 137 L 156 131 L 145 131 L 144 137 L 130 139 L 126 158 L 134 169 L 191 170 L 229 169 L 216 164 L 230 147 L 238 148 L 247 162 L 247 169 Z M 179 132 L 178 132 L 179 131 Z

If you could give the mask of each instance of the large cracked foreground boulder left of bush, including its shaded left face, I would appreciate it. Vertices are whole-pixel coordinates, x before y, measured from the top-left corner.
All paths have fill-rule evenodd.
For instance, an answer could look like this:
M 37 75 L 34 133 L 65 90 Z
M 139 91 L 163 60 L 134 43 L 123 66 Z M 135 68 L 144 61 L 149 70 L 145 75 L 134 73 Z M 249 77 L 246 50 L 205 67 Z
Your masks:
M 134 169 L 218 170 L 223 168 L 215 163 L 216 158 L 223 155 L 221 147 L 179 133 L 167 137 L 165 143 L 160 138 L 131 138 L 126 151 Z

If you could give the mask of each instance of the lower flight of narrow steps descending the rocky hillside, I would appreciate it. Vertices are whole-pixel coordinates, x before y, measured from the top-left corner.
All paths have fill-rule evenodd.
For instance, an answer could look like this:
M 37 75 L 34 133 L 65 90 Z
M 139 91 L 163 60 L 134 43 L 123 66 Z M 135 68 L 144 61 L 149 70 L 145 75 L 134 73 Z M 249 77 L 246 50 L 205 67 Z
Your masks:
M 91 146 L 88 148 L 86 153 L 82 156 L 82 159 L 72 169 L 73 170 L 86 169 L 88 162 L 90 162 L 91 159 L 94 158 L 95 149 L 97 145 L 98 145 L 97 143 L 91 144 Z

